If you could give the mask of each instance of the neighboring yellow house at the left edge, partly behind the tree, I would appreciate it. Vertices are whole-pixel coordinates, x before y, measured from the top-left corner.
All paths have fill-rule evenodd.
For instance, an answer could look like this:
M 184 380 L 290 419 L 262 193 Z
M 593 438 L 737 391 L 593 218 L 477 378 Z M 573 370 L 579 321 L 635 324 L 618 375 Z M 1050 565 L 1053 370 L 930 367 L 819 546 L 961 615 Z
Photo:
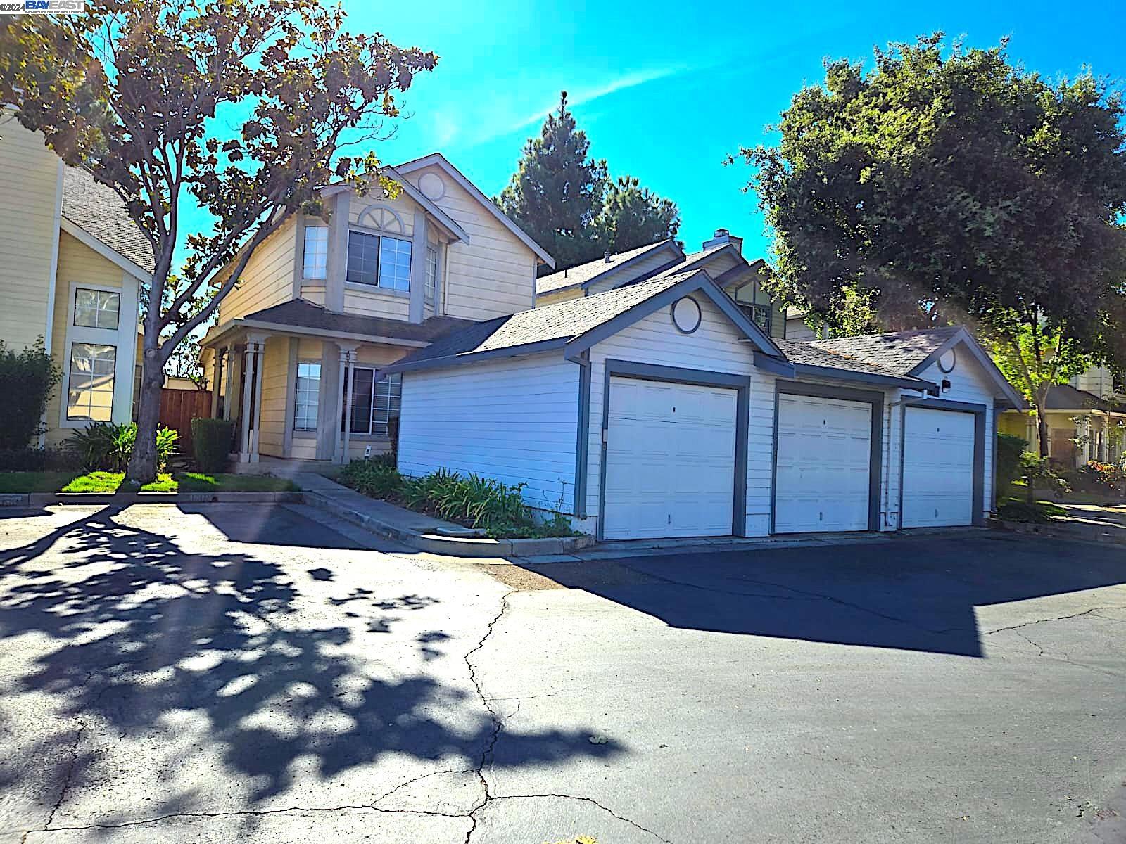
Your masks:
M 111 189 L 63 164 L 10 109 L 0 111 L 0 339 L 18 350 L 42 336 L 63 371 L 41 442 L 128 422 L 148 240 Z

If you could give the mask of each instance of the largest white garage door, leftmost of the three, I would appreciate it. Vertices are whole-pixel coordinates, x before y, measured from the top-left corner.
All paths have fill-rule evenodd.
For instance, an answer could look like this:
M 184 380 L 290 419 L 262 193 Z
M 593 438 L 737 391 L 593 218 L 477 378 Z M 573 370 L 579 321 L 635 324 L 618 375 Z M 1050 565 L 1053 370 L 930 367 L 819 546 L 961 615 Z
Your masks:
M 606 539 L 731 535 L 735 395 L 610 378 Z

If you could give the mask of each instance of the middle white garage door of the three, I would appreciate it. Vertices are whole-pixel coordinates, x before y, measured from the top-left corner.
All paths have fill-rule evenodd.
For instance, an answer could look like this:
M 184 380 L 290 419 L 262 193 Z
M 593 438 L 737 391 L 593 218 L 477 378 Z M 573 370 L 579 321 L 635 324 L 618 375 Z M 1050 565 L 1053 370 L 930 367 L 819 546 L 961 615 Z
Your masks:
M 775 532 L 867 530 L 872 405 L 780 393 Z

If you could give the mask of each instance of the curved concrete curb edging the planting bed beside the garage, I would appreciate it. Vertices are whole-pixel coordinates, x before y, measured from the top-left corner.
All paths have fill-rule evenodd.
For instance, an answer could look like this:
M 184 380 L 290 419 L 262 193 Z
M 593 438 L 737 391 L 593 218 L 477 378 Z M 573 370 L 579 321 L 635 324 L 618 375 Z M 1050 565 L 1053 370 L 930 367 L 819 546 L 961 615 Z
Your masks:
M 323 493 L 305 491 L 305 503 L 343 519 L 359 528 L 428 554 L 444 557 L 528 557 L 543 554 L 566 554 L 593 544 L 590 536 L 556 537 L 551 539 L 489 539 L 486 537 L 445 537 L 437 533 L 418 533 L 367 513 L 342 506 Z

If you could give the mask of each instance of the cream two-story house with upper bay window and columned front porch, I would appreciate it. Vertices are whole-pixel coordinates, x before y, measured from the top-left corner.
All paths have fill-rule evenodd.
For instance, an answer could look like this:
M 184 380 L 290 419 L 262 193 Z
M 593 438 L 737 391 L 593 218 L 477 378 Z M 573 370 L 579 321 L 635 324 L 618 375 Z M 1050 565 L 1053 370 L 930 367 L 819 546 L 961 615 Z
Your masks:
M 381 368 L 454 327 L 534 305 L 551 255 L 443 155 L 384 168 L 402 190 L 322 189 L 252 255 L 204 338 L 240 460 L 386 451 L 402 379 Z

